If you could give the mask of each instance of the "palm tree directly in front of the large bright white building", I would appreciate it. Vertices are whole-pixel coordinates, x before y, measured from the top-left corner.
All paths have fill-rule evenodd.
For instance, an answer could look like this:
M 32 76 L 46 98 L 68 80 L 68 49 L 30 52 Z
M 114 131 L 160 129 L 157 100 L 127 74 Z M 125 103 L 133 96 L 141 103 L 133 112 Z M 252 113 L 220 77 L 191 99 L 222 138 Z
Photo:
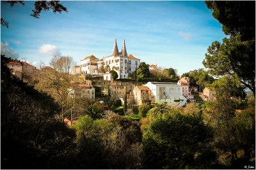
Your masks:
M 163 115 L 163 113 L 168 113 L 170 111 L 170 107 L 167 105 L 167 102 L 155 102 L 152 103 L 154 108 L 150 109 L 148 112 L 151 118 L 159 117 Z

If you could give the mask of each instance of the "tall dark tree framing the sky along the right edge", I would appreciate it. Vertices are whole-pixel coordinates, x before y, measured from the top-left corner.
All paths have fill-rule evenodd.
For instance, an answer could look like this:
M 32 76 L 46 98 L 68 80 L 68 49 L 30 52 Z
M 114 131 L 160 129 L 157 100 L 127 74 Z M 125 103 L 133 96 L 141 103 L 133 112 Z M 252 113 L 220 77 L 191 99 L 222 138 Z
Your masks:
M 204 66 L 214 76 L 239 76 L 255 96 L 255 1 L 205 1 L 214 18 L 230 35 L 214 41 L 205 54 Z M 246 12 L 244 12 L 246 11 Z

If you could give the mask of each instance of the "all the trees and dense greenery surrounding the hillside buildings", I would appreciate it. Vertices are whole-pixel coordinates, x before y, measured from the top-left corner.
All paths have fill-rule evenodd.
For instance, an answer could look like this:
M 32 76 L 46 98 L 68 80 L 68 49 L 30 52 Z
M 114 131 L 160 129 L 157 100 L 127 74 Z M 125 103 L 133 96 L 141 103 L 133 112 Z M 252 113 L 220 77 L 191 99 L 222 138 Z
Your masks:
M 11 5 L 23 1 L 6 1 Z M 243 169 L 255 167 L 255 1 L 206 1 L 230 35 L 214 41 L 205 69 L 184 73 L 191 85 L 216 90 L 212 102 L 141 105 L 139 115 L 122 117 L 120 99 L 97 103 L 68 94 L 79 78 L 68 75 L 72 57 L 52 60 L 51 72 L 24 74 L 24 83 L 1 55 L 1 167 L 3 169 Z M 42 10 L 66 11 L 58 1 L 36 1 Z M 55 9 L 55 7 L 56 9 Z M 1 24 L 7 24 L 1 18 Z M 141 62 L 137 81 L 177 82 L 175 69 L 150 73 Z M 209 75 L 216 77 L 218 80 Z M 118 77 L 114 71 L 113 78 Z M 244 86 L 241 85 L 244 84 Z M 99 92 L 99 91 L 98 91 Z M 196 101 L 198 99 L 196 98 Z M 127 99 L 125 99 L 127 100 Z M 241 110 L 238 110 L 241 109 Z M 116 113 L 120 114 L 117 115 Z M 67 117 L 79 117 L 68 127 Z M 140 120 L 131 120 L 140 119 Z

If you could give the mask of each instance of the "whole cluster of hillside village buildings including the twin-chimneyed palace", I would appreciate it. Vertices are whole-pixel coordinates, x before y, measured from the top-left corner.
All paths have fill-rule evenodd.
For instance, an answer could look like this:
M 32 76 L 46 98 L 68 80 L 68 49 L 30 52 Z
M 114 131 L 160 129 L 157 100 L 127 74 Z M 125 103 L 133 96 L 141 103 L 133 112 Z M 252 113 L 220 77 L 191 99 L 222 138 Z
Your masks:
M 31 66 L 27 62 L 8 62 L 7 66 L 12 74 L 22 79 L 24 74 L 33 72 L 59 71 L 58 68 L 44 66 L 41 69 Z M 191 86 L 189 77 L 180 77 L 177 83 L 161 81 L 125 81 L 129 79 L 130 74 L 134 74 L 140 66 L 140 59 L 132 54 L 127 55 L 125 40 L 121 52 L 115 40 L 113 52 L 108 57 L 98 59 L 94 55 L 84 57 L 79 66 L 72 67 L 70 78 L 79 77 L 75 87 L 70 87 L 69 96 L 88 97 L 100 101 L 102 96 L 108 96 L 109 99 L 120 99 L 122 104 L 127 104 L 127 108 L 140 106 L 141 104 L 150 104 L 152 102 L 167 102 L 170 106 L 184 106 L 189 101 L 195 101 L 194 94 L 198 93 L 198 87 Z M 148 66 L 150 72 L 156 71 L 158 67 L 154 64 Z M 118 77 L 114 80 L 111 71 L 115 71 Z M 90 78 L 89 78 L 90 77 Z M 95 88 L 100 89 L 96 92 Z M 79 95 L 77 94 L 79 89 Z M 204 101 L 214 100 L 215 91 L 205 87 L 200 93 Z M 106 97 L 105 97 L 106 98 Z M 126 101 L 124 99 L 126 98 Z M 104 99 L 104 98 L 102 98 Z M 103 101 L 102 101 L 103 102 Z

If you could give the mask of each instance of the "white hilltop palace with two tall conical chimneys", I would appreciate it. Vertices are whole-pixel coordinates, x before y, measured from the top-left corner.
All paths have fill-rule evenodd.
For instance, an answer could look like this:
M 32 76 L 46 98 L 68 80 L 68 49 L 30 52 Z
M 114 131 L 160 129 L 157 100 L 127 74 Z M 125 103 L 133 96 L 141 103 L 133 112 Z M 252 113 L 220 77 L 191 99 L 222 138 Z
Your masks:
M 115 40 L 112 55 L 97 59 L 94 55 L 90 55 L 81 60 L 82 74 L 102 74 L 102 69 L 108 73 L 115 70 L 118 74 L 118 79 L 128 78 L 129 74 L 134 73 L 140 66 L 140 59 L 127 55 L 125 40 L 121 52 L 118 51 Z

